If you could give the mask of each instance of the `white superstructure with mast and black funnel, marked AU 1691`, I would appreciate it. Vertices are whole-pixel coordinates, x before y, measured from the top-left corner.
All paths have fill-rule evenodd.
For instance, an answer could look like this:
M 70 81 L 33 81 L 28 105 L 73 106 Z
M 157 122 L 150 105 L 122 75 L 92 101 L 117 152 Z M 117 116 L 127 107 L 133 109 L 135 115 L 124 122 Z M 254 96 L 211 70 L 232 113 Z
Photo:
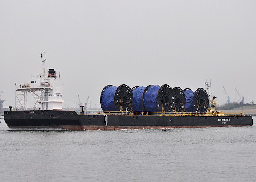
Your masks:
M 42 54 L 45 54 L 42 52 Z M 42 57 L 43 75 L 31 75 L 29 83 L 16 85 L 15 91 L 15 110 L 32 111 L 41 104 L 41 110 L 62 110 L 62 84 L 61 74 L 56 74 L 56 70 L 49 69 L 45 76 L 44 62 L 45 57 Z M 28 94 L 34 99 L 33 106 L 28 107 Z M 39 105 L 40 106 L 40 105 Z

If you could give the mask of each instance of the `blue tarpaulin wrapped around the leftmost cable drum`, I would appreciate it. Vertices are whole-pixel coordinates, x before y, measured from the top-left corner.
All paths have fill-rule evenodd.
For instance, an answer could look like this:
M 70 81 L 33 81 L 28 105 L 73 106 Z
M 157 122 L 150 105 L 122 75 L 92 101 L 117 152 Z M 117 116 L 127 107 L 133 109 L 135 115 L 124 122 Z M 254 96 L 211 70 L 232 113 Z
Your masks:
M 111 86 L 106 88 L 101 97 L 102 109 L 103 111 L 116 111 L 116 107 L 114 105 L 114 95 L 117 87 Z

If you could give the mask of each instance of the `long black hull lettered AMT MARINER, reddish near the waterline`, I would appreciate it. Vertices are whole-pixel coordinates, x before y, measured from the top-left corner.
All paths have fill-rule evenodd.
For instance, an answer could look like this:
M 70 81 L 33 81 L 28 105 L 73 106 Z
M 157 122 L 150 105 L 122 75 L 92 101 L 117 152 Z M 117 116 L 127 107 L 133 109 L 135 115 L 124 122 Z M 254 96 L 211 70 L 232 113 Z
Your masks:
M 78 115 L 75 111 L 4 111 L 9 128 L 60 128 L 115 130 L 141 128 L 190 128 L 252 126 L 252 116 L 129 116 Z M 106 126 L 105 126 L 106 125 Z

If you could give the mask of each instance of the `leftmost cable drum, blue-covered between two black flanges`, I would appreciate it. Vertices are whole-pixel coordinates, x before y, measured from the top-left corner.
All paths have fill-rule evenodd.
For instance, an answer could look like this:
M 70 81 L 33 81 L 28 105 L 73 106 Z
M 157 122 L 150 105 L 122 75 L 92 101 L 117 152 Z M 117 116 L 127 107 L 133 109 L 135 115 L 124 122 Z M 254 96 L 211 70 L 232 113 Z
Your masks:
M 119 87 L 107 85 L 101 92 L 100 103 L 103 111 L 132 112 L 133 94 L 131 88 L 125 84 Z

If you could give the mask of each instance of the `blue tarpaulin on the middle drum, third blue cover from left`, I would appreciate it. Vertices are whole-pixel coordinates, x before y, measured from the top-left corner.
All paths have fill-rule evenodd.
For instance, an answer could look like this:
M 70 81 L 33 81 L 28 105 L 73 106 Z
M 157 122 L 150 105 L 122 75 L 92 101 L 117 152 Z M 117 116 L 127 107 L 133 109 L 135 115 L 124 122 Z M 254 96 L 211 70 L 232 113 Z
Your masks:
M 148 112 L 158 112 L 157 106 L 157 93 L 159 85 L 151 85 L 148 90 L 144 93 L 143 104 Z

